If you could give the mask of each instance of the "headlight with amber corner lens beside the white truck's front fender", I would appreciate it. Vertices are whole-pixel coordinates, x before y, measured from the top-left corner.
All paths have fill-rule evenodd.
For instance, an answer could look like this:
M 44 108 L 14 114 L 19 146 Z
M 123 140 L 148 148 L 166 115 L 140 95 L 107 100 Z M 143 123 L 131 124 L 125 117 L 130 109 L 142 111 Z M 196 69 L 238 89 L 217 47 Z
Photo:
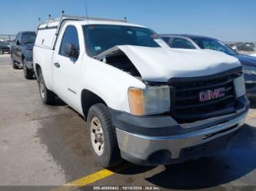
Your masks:
M 161 114 L 170 110 L 170 90 L 168 86 L 139 89 L 130 87 L 128 98 L 131 114 Z

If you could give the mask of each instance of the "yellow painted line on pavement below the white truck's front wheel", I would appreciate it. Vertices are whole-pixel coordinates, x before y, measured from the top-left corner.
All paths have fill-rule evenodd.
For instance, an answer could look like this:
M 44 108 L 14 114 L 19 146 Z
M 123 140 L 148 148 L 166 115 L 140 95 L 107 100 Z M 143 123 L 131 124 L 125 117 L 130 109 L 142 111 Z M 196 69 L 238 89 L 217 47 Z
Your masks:
M 51 191 L 75 190 L 75 189 L 78 189 L 79 187 L 83 187 L 83 186 L 87 186 L 88 184 L 95 183 L 100 179 L 105 179 L 108 176 L 112 176 L 115 173 L 121 172 L 122 170 L 126 170 L 131 166 L 132 164 L 125 164 L 123 166 L 116 167 L 115 169 L 113 168 L 113 171 L 108 169 L 100 170 L 96 173 L 92 173 L 88 176 L 82 177 L 80 179 L 76 179 L 70 183 L 65 183 L 64 185 L 58 187 L 57 189 L 52 189 Z

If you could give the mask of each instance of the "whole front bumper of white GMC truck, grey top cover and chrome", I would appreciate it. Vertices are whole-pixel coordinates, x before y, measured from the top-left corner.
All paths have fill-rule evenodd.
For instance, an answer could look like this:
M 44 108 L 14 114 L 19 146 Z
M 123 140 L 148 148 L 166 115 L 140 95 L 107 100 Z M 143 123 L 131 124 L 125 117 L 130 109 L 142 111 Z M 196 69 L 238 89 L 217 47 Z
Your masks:
M 244 124 L 249 104 L 246 97 L 241 97 L 241 102 L 243 107 L 235 114 L 189 124 L 175 123 L 170 116 L 149 117 L 141 123 L 137 117 L 132 121 L 131 118 L 125 120 L 125 114 L 113 116 L 115 112 L 111 110 L 121 156 L 132 163 L 158 165 L 181 163 L 213 153 L 214 150 L 225 147 L 231 135 Z M 121 118 L 125 123 L 120 122 Z M 137 132 L 132 132 L 135 129 L 132 129 L 131 123 L 144 125 L 141 133 L 138 128 Z M 188 150 L 195 151 L 187 155 Z

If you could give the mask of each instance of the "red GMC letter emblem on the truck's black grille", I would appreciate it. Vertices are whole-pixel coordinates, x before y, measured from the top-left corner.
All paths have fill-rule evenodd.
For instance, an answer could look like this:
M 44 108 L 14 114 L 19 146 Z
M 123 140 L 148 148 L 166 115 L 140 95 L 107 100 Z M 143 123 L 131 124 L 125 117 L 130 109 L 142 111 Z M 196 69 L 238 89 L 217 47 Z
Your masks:
M 201 102 L 207 101 L 207 100 L 214 100 L 219 97 L 224 97 L 225 96 L 225 88 L 220 87 L 218 89 L 215 89 L 213 91 L 208 90 L 208 91 L 202 91 L 199 94 L 199 100 Z

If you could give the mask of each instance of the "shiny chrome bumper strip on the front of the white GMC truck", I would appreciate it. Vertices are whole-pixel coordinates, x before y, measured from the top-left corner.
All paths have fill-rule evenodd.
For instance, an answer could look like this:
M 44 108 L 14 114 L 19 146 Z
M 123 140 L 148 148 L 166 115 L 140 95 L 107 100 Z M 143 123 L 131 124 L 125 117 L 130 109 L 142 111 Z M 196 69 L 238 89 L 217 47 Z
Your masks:
M 246 115 L 247 113 L 242 114 L 226 123 L 206 129 L 166 137 L 149 137 L 128 133 L 125 130 L 116 128 L 118 146 L 122 157 L 133 163 L 136 163 L 134 161 L 148 161 L 148 157 L 151 154 L 160 150 L 168 150 L 171 157 L 170 160 L 176 160 L 179 158 L 182 149 L 207 143 L 238 130 L 244 124 Z

